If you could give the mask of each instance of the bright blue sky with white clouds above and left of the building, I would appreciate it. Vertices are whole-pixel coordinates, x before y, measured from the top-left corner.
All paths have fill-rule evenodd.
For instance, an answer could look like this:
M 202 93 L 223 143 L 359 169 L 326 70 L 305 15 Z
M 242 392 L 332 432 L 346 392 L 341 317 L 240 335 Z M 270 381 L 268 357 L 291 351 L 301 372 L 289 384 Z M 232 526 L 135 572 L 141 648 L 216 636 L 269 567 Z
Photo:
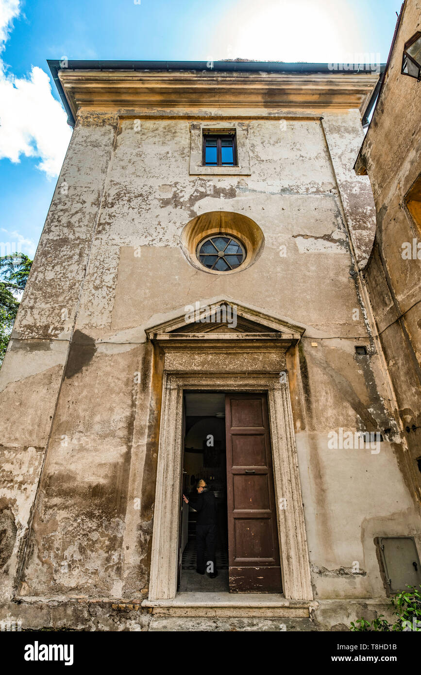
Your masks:
M 46 59 L 385 62 L 401 0 L 0 0 L 0 242 L 32 257 L 71 130 Z M 378 58 L 376 56 L 376 58 Z

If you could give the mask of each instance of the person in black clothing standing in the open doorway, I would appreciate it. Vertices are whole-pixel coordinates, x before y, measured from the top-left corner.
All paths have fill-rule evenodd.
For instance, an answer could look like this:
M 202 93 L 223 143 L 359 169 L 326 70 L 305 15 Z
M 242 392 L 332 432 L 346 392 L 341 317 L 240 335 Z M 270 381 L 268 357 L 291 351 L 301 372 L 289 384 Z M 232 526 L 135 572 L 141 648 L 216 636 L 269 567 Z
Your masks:
M 213 492 L 209 492 L 205 481 L 200 480 L 196 486 L 197 495 L 183 495 L 183 499 L 197 512 L 196 520 L 196 572 L 204 574 L 206 566 L 211 563 L 211 579 L 218 575 L 215 561 L 215 541 L 217 537 L 217 502 Z M 208 559 L 205 559 L 205 550 Z M 209 571 L 209 570 L 208 570 Z

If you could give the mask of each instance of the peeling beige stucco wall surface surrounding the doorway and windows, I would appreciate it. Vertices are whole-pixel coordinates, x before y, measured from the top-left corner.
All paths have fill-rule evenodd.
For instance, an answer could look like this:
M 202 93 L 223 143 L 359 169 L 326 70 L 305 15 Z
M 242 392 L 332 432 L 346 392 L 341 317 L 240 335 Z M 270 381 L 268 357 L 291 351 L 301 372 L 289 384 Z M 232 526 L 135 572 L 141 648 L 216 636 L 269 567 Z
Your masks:
M 144 331 L 220 298 L 305 329 L 288 370 L 316 599 L 385 596 L 373 539 L 420 520 L 354 274 L 374 232 L 368 180 L 352 176 L 360 114 L 294 114 L 244 119 L 251 175 L 206 177 L 189 174 L 180 111 L 80 116 L 0 375 L 6 612 L 16 593 L 32 608 L 146 597 L 163 355 Z M 184 257 L 183 228 L 209 211 L 262 229 L 248 269 L 212 275 Z M 340 427 L 381 431 L 380 452 L 330 450 Z M 78 612 L 54 620 L 83 624 Z

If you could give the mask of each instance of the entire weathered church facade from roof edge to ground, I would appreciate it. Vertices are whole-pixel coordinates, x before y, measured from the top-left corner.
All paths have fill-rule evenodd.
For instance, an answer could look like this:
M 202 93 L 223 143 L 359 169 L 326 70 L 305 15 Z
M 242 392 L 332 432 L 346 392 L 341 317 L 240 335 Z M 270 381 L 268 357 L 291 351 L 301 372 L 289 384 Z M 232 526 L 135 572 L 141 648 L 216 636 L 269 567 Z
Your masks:
M 381 538 L 421 540 L 353 169 L 379 74 L 51 70 L 76 125 L 0 373 L 2 618 L 385 614 Z M 203 475 L 227 525 L 212 596 L 183 564 L 181 493 Z

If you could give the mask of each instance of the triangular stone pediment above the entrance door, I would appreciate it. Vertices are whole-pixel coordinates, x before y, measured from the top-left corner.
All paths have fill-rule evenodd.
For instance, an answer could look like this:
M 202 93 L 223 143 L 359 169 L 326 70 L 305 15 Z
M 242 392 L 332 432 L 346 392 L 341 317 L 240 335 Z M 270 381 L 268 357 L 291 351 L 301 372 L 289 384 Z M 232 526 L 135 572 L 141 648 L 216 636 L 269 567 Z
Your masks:
M 210 305 L 200 305 L 196 302 L 194 305 L 186 306 L 184 315 L 151 327 L 146 333 L 151 340 L 158 336 L 169 340 L 194 339 L 194 335 L 197 335 L 198 339 L 203 339 L 204 333 L 210 339 L 217 339 L 221 334 L 222 339 L 223 335 L 244 333 L 244 337 L 247 335 L 250 338 L 271 336 L 297 341 L 304 333 L 304 328 L 231 300 L 219 300 Z M 237 337 L 240 338 L 240 335 Z

